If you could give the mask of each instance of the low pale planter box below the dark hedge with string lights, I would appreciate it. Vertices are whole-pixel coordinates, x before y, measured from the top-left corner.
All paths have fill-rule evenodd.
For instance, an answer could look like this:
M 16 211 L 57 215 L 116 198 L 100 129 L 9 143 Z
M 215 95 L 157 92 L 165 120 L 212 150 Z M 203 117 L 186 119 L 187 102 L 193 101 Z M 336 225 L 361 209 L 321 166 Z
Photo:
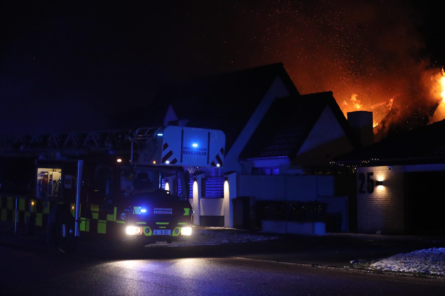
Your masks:
M 271 221 L 262 220 L 261 230 L 272 233 L 294 233 L 294 234 L 326 234 L 324 222 L 296 222 L 296 221 Z

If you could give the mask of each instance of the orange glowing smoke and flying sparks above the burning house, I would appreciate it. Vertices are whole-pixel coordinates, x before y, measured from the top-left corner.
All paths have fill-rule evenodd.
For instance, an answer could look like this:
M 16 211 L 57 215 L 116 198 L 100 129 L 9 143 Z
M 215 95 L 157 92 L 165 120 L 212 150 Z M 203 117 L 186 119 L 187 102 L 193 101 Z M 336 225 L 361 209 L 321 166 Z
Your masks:
M 408 116 L 433 100 L 425 95 L 431 66 L 418 54 L 424 43 L 409 5 L 267 1 L 234 9 L 245 24 L 240 35 L 251 36 L 239 63 L 283 61 L 300 93 L 331 90 L 344 114 L 372 111 L 376 125 L 393 107 Z

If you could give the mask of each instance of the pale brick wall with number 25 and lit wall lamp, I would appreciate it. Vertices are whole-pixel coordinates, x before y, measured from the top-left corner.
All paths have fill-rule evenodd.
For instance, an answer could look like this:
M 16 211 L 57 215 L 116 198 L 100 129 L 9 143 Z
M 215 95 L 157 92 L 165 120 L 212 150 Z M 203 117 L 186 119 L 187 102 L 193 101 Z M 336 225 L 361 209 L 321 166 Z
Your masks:
M 372 193 L 368 173 L 373 173 L 369 176 L 374 180 Z M 364 181 L 360 179 L 363 177 Z M 383 186 L 376 186 L 376 181 L 383 181 Z M 360 233 L 405 232 L 403 166 L 392 166 L 391 170 L 388 166 L 357 168 L 357 225 Z

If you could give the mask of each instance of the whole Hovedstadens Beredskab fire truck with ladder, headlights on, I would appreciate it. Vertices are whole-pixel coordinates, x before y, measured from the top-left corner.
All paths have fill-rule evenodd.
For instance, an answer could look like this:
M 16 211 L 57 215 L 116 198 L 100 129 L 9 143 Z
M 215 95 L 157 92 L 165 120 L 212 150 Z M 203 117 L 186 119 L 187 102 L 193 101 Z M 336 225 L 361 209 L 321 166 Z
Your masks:
M 46 237 L 180 241 L 190 174 L 223 166 L 220 130 L 181 126 L 0 138 L 0 229 Z

